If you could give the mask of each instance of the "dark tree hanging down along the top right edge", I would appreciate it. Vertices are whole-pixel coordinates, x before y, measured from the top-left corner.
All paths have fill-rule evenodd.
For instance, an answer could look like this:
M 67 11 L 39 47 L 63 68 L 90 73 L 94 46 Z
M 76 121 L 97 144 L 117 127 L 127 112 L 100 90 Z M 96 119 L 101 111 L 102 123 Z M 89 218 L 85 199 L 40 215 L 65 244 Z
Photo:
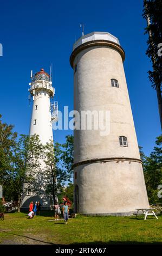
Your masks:
M 143 17 L 147 20 L 147 27 L 145 33 L 149 34 L 147 40 L 146 54 L 152 61 L 153 70 L 148 71 L 148 76 L 152 83 L 152 87 L 157 91 L 159 114 L 162 129 L 162 97 L 161 97 L 161 85 L 162 85 L 162 61 L 161 54 L 158 52 L 161 50 L 159 46 L 162 43 L 162 1 L 161 0 L 144 0 Z

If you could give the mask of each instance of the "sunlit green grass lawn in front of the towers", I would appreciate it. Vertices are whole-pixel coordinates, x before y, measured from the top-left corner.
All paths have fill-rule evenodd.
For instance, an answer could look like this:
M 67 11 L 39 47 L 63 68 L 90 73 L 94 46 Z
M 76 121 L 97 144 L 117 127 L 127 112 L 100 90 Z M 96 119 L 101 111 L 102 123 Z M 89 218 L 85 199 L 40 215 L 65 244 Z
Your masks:
M 51 212 L 50 212 L 51 215 Z M 84 217 L 69 219 L 68 224 L 54 220 L 53 216 L 5 214 L 0 220 L 1 244 L 74 244 L 74 243 L 161 243 L 162 216 L 156 220 L 142 216 Z

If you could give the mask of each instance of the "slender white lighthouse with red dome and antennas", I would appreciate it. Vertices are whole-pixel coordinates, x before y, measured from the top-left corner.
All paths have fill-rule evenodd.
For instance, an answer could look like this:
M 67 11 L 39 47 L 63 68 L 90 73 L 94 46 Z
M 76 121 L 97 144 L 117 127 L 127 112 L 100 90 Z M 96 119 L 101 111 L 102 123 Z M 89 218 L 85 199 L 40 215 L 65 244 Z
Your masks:
M 31 135 L 39 135 L 40 141 L 43 145 L 53 141 L 52 123 L 57 121 L 57 102 L 50 102 L 53 99 L 55 90 L 52 87 L 51 75 L 41 69 L 33 77 L 31 71 L 31 83 L 29 83 L 30 96 L 33 97 L 33 111 L 31 114 L 30 132 Z M 41 163 L 42 168 L 44 162 Z M 25 186 L 25 185 L 24 185 Z M 40 201 L 44 208 L 48 208 L 51 204 L 50 198 L 43 194 L 41 197 L 30 190 L 27 191 L 22 198 L 21 207 L 27 208 L 29 202 L 33 200 Z

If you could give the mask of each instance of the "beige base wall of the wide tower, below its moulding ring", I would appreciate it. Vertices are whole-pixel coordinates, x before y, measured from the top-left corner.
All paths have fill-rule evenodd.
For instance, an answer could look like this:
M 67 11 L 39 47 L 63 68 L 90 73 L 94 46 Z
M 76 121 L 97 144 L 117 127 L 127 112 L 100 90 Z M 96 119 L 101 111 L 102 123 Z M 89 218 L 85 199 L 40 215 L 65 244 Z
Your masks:
M 80 214 L 115 214 L 148 208 L 141 163 L 101 162 L 76 167 Z

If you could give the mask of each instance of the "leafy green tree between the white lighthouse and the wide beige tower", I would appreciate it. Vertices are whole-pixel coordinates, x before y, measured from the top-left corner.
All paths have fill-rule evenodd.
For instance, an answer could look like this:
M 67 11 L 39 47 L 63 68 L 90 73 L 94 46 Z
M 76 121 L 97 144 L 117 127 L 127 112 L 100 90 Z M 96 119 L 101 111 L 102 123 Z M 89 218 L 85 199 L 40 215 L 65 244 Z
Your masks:
M 53 141 L 47 143 L 44 148 L 44 179 L 48 180 L 48 185 L 46 186 L 46 193 L 49 196 L 57 196 L 59 202 L 62 202 L 62 197 L 66 196 L 63 187 L 67 181 L 72 179 L 73 175 L 73 161 L 74 161 L 74 146 L 73 146 L 73 136 L 66 136 L 66 143 L 59 144 Z M 72 186 L 69 185 L 71 188 Z M 69 188 L 68 187 L 68 188 Z M 69 193 L 69 191 L 67 192 Z M 69 196 L 73 200 L 72 193 Z M 68 197 L 68 198 L 69 198 Z M 70 199 L 69 198 L 69 199 Z

